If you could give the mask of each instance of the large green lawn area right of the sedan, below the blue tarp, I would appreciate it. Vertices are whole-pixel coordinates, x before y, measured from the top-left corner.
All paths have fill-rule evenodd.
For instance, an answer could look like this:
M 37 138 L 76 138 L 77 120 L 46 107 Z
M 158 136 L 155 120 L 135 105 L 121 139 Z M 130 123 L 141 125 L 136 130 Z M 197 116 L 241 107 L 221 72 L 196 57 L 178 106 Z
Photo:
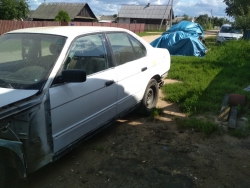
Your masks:
M 218 113 L 225 94 L 242 94 L 250 85 L 250 42 L 213 45 L 205 57 L 172 56 L 168 78 L 182 82 L 163 86 L 165 100 L 189 114 Z M 246 109 L 249 107 L 247 103 Z

